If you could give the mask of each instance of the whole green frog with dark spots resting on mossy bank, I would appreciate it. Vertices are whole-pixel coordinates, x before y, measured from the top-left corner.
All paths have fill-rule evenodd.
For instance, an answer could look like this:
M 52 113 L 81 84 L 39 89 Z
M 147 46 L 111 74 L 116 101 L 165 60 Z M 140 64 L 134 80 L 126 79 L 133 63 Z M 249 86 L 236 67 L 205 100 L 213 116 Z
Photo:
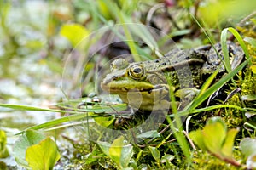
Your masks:
M 234 42 L 227 42 L 231 68 L 241 64 L 244 54 Z M 214 49 L 215 48 L 215 49 Z M 220 54 L 220 57 L 218 54 Z M 191 101 L 213 71 L 223 75 L 221 45 L 195 49 L 173 49 L 160 59 L 131 62 L 119 58 L 110 65 L 111 72 L 102 80 L 102 89 L 119 94 L 123 102 L 142 110 L 168 110 L 170 90 L 181 100 Z M 178 99 L 177 99 L 178 100 Z M 181 106 L 182 102 L 177 102 Z M 187 105 L 188 102 L 183 102 Z

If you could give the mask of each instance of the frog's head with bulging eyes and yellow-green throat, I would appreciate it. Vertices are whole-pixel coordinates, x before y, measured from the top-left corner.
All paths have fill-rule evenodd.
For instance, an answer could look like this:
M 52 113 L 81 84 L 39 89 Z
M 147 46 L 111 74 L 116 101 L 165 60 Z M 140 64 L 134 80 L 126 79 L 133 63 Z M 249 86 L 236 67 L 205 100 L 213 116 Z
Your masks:
M 143 62 L 128 63 L 125 59 L 116 59 L 110 65 L 111 72 L 102 80 L 102 89 L 110 94 L 119 94 L 127 104 L 144 110 L 169 107 L 163 100 L 168 97 L 168 89 L 160 86 L 163 77 L 157 72 L 147 71 Z M 159 107 L 158 107 L 159 106 Z

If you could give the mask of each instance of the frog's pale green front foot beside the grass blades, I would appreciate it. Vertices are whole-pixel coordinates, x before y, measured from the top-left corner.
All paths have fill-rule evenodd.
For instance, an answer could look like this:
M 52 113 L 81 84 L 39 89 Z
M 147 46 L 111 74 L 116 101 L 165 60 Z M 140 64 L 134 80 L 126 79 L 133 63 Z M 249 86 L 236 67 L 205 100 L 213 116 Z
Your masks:
M 199 89 L 197 88 L 183 88 L 177 90 L 175 96 L 180 99 L 180 103 L 178 105 L 178 110 L 181 111 L 185 108 L 189 103 L 195 99 L 195 96 L 199 93 Z

